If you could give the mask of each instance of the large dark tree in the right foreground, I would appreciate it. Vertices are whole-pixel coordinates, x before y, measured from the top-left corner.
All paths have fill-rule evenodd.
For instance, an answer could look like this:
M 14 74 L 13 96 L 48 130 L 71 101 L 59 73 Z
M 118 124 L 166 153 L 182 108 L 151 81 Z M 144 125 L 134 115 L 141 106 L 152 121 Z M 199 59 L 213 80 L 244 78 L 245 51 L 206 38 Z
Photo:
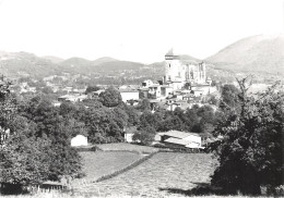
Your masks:
M 240 109 L 232 108 L 213 132 L 223 138 L 210 146 L 220 162 L 211 183 L 227 194 L 257 195 L 261 185 L 284 184 L 284 95 L 272 86 L 249 97 L 246 78 L 238 83 Z

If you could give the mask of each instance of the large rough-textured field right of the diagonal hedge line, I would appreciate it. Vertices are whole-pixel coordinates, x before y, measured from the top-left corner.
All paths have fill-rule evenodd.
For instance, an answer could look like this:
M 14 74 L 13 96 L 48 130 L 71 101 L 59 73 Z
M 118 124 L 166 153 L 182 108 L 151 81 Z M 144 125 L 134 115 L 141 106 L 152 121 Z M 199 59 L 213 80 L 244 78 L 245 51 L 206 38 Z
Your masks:
M 159 152 L 137 168 L 108 181 L 75 188 L 78 195 L 181 196 L 208 183 L 213 160 L 204 153 Z

